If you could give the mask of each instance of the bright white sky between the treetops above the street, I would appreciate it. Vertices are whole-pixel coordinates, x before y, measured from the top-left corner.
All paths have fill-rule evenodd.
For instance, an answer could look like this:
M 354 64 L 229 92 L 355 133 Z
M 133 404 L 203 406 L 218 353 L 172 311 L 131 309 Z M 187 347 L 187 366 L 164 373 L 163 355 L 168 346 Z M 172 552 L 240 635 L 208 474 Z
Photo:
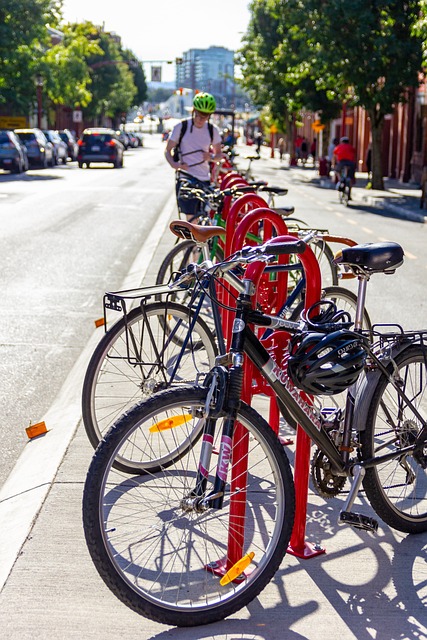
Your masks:
M 140 60 L 175 60 L 187 49 L 237 49 L 248 26 L 248 5 L 249 0 L 64 0 L 63 10 L 67 22 L 104 23 Z M 173 67 L 164 65 L 163 80 L 174 78 Z

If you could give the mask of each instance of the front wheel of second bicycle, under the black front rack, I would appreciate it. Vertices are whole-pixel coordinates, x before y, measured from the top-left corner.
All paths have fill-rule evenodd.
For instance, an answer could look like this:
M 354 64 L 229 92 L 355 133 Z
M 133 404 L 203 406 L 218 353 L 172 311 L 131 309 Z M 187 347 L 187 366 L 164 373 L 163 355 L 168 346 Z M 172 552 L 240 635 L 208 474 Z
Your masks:
M 182 339 L 194 314 L 171 302 L 147 304 L 144 312 L 145 315 L 136 307 L 126 319 L 122 317 L 116 322 L 104 334 L 89 361 L 83 382 L 82 416 L 94 448 L 111 424 L 137 401 L 171 384 L 194 382 L 198 374 L 206 373 L 214 365 L 218 353 L 214 336 L 204 320 L 197 317 L 181 366 L 172 380 Z M 171 333 L 174 329 L 176 332 Z M 144 364 L 135 364 L 144 358 Z M 123 460 L 124 466 L 129 466 L 128 463 L 128 459 Z

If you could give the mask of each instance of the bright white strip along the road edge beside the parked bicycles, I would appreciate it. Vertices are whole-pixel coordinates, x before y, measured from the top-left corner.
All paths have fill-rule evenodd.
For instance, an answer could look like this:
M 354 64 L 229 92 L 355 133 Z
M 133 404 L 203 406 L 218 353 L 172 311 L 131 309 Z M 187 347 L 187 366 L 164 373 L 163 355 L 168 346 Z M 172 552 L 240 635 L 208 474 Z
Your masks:
M 175 194 L 172 194 L 136 257 L 122 289 L 129 289 L 136 275 L 139 286 L 175 206 Z M 77 430 L 81 419 L 82 378 L 99 340 L 99 333 L 94 331 L 59 394 L 42 418 L 49 430 L 48 433 L 26 444 L 0 490 L 0 592 L 46 500 Z

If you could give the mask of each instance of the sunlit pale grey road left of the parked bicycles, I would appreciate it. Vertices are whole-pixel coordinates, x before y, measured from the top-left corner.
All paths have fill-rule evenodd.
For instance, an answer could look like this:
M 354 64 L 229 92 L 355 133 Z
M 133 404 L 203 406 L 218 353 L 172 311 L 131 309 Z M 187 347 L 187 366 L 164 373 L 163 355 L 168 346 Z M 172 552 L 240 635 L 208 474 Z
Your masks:
M 0 486 L 173 189 L 157 135 L 125 167 L 0 173 Z

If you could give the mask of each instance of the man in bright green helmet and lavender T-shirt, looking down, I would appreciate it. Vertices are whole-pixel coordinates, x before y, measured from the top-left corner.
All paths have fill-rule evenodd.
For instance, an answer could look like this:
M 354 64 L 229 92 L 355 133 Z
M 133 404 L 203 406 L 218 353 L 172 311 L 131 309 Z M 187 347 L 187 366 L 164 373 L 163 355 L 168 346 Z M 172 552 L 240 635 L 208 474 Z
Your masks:
M 189 217 L 199 213 L 201 203 L 195 198 L 180 197 L 181 184 L 190 181 L 208 185 L 209 162 L 223 157 L 219 129 L 209 122 L 216 109 L 215 98 L 210 93 L 197 93 L 193 99 L 193 107 L 191 118 L 182 120 L 172 129 L 165 150 L 166 160 L 177 172 L 178 210 Z

